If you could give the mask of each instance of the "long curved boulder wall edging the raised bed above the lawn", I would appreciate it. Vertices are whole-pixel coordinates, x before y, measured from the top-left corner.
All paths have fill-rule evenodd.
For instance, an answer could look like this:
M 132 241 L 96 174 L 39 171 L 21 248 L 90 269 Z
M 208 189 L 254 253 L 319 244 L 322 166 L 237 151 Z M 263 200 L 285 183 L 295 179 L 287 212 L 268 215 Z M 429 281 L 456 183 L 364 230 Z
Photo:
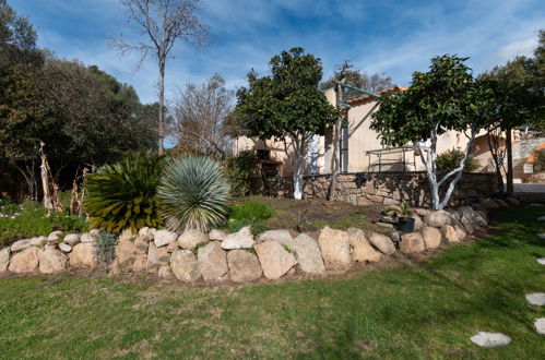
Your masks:
M 286 229 L 254 237 L 249 227 L 238 232 L 182 233 L 143 228 L 123 231 L 104 252 L 104 235 L 54 231 L 48 237 L 23 239 L 0 249 L 0 275 L 56 274 L 67 268 L 106 271 L 108 275 L 147 274 L 183 283 L 248 283 L 291 275 L 325 276 L 353 265 L 377 263 L 401 252 L 417 254 L 441 244 L 460 242 L 487 225 L 486 213 L 462 206 L 450 211 L 414 208 L 414 232 L 387 236 L 351 228 L 324 227 L 318 239 L 296 237 Z M 108 256 L 105 256 L 108 254 Z

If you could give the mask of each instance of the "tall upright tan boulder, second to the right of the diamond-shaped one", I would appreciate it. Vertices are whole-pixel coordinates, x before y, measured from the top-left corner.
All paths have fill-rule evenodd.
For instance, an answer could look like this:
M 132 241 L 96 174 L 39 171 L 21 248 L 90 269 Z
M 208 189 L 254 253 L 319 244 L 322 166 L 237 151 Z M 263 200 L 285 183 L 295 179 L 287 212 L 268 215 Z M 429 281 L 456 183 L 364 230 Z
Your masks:
M 324 227 L 320 231 L 318 245 L 322 252 L 325 268 L 346 269 L 351 266 L 349 238 L 345 231 Z

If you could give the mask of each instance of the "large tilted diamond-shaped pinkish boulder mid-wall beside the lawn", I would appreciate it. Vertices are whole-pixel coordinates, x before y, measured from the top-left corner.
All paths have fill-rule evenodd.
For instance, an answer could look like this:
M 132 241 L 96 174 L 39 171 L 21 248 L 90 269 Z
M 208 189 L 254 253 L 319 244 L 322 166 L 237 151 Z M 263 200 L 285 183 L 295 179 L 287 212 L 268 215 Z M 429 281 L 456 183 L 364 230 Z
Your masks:
M 288 249 L 285 249 L 287 247 Z M 277 241 L 263 241 L 253 245 L 258 253 L 258 259 L 268 279 L 277 279 L 286 274 L 292 267 L 297 265 L 297 260 L 287 244 Z

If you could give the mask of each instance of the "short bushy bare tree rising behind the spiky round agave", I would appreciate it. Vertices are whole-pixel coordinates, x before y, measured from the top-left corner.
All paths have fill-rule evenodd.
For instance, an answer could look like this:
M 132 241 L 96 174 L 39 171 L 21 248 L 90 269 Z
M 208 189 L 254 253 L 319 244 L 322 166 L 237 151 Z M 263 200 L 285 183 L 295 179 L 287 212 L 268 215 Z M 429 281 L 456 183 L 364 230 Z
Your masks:
M 226 119 L 233 110 L 234 93 L 215 74 L 205 83 L 189 83 L 179 89 L 173 107 L 170 135 L 183 152 L 224 158 L 230 146 Z

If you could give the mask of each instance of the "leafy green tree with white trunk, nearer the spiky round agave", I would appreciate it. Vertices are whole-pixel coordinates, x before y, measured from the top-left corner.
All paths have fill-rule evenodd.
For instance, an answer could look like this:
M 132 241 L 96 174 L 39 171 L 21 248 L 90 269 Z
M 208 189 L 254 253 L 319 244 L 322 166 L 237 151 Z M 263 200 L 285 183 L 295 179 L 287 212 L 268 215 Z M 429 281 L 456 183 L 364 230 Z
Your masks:
M 312 135 L 323 135 L 339 117 L 320 92 L 320 59 L 303 48 L 282 51 L 270 61 L 271 74 L 248 74 L 248 87 L 238 91 L 235 109 L 248 134 L 284 142 L 294 167 L 294 197 L 303 197 L 303 168 Z M 293 154 L 293 155 L 292 155 Z

